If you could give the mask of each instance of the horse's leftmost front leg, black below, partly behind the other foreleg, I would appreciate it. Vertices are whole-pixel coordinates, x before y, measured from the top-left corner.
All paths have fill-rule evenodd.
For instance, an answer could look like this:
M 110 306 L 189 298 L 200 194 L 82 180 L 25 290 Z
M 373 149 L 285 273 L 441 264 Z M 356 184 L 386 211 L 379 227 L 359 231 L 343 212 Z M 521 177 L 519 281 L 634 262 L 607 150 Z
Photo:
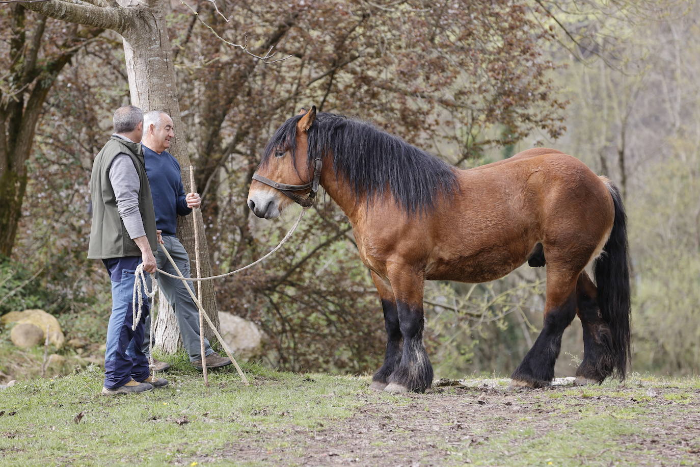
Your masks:
M 380 391 L 386 388 L 388 377 L 398 367 L 401 362 L 401 330 L 398 321 L 398 310 L 396 300 L 391 287 L 384 279 L 372 272 L 374 286 L 379 291 L 381 299 L 381 309 L 384 312 L 384 328 L 386 328 L 386 354 L 384 354 L 384 365 L 374 373 L 372 377 L 372 389 Z

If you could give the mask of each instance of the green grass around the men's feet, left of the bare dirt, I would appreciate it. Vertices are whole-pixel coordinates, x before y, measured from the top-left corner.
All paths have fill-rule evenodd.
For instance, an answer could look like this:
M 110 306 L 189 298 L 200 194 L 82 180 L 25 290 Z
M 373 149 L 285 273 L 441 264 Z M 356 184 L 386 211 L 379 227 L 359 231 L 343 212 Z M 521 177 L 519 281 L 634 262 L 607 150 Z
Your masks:
M 99 395 L 97 367 L 59 379 L 20 382 L 0 391 L 2 463 L 30 466 L 46 459 L 76 465 L 183 462 L 265 431 L 314 429 L 349 417 L 366 390 L 362 379 L 293 375 L 246 364 L 251 386 L 235 370 L 209 372 L 175 362 L 164 389 L 131 396 Z M 309 382 L 309 379 L 315 383 Z M 16 412 L 9 416 L 10 412 Z M 76 424 L 74 418 L 83 412 Z M 286 442 L 283 437 L 279 442 Z M 189 465 L 189 463 L 187 463 Z

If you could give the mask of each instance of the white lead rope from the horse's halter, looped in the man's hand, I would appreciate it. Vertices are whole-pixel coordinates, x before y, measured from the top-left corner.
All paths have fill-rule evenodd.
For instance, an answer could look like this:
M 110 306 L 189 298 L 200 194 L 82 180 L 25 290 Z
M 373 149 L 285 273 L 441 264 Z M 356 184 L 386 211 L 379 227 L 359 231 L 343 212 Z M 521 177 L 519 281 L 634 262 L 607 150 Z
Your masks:
M 299 214 L 299 217 L 297 218 L 297 221 L 292 225 L 292 228 L 290 228 L 289 232 L 287 232 L 287 235 L 284 236 L 284 238 L 279 242 L 277 246 L 275 246 L 272 250 L 269 251 L 265 256 L 262 256 L 262 258 L 259 258 L 258 260 L 255 260 L 253 263 L 240 267 L 239 269 L 232 271 L 232 272 L 227 272 L 226 274 L 219 274 L 218 276 L 211 276 L 211 277 L 202 277 L 200 279 L 195 279 L 195 278 L 190 278 L 190 279 L 184 279 L 181 276 L 176 276 L 174 274 L 170 274 L 169 272 L 165 272 L 164 270 L 156 268 L 156 271 L 160 272 L 160 274 L 165 274 L 166 276 L 169 277 L 174 277 L 175 279 L 180 279 L 183 281 L 185 286 L 189 290 L 189 286 L 187 285 L 187 281 L 211 281 L 214 279 L 221 279 L 221 277 L 228 277 L 232 276 L 233 274 L 237 274 L 239 272 L 245 271 L 249 267 L 253 267 L 258 263 L 262 263 L 262 261 L 266 260 L 269 258 L 269 256 L 272 256 L 272 254 L 279 250 L 283 244 L 287 242 L 288 239 L 292 236 L 295 230 L 297 230 L 297 227 L 299 226 L 299 223 L 302 220 L 302 217 L 304 217 L 304 213 L 307 211 L 308 208 L 302 209 L 301 213 Z M 153 299 L 155 297 L 155 294 L 158 293 L 158 281 L 155 279 L 155 275 L 151 275 L 151 291 L 148 291 L 148 287 L 146 286 L 146 275 L 144 274 L 144 264 L 141 263 L 136 267 L 136 271 L 134 272 L 134 294 L 132 296 L 132 311 L 137 310 L 137 312 L 133 313 L 134 315 L 134 323 L 132 326 L 132 330 L 136 330 L 137 324 L 141 320 L 141 313 L 143 312 L 144 309 L 144 295 L 141 294 L 141 288 L 144 288 L 144 293 L 148 298 Z M 190 293 L 190 295 L 193 295 Z M 193 300 L 197 301 L 196 298 L 193 297 Z M 153 304 L 153 300 L 151 300 L 151 304 Z M 199 305 L 199 302 L 197 302 L 197 305 Z M 199 305 L 201 307 L 201 305 Z M 209 316 L 204 314 L 204 316 L 207 318 L 207 321 L 209 321 Z M 153 369 L 153 351 L 151 349 L 151 342 L 153 340 L 153 322 L 155 320 L 153 319 L 153 316 L 151 316 L 151 337 L 148 339 L 148 356 L 149 356 L 149 367 Z M 209 321 L 209 325 L 211 326 L 211 321 Z M 214 326 L 211 326 L 211 328 L 214 330 L 214 333 L 218 336 L 218 333 L 216 332 L 216 328 Z M 200 329 L 200 333 L 202 330 Z M 219 339 L 221 340 L 221 338 Z M 238 365 L 237 365 L 238 366 Z M 239 370 L 240 372 L 240 370 Z

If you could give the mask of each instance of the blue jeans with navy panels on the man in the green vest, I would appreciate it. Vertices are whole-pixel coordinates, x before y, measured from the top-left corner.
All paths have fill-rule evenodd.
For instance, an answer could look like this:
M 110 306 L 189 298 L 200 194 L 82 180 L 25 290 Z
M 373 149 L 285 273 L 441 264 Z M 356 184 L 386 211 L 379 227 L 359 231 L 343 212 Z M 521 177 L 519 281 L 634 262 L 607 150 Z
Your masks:
M 144 325 L 151 309 L 151 302 L 144 297 L 144 307 L 136 330 L 132 330 L 134 310 L 134 271 L 141 264 L 141 256 L 109 258 L 102 260 L 112 281 L 112 314 L 107 326 L 107 349 L 104 352 L 104 387 L 115 389 L 130 382 L 144 381 L 150 375 L 148 360 L 141 351 L 144 342 Z M 148 286 L 151 281 L 146 274 Z

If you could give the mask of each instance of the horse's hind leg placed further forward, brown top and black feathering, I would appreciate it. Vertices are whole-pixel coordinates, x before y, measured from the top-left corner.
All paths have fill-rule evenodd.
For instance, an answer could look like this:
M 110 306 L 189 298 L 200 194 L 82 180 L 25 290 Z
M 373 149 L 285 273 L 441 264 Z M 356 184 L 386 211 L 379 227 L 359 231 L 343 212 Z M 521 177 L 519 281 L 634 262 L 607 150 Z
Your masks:
M 547 264 L 545 324 L 532 348 L 511 376 L 512 387 L 549 386 L 561 349 L 561 335 L 576 316 L 576 279 L 580 270 Z

